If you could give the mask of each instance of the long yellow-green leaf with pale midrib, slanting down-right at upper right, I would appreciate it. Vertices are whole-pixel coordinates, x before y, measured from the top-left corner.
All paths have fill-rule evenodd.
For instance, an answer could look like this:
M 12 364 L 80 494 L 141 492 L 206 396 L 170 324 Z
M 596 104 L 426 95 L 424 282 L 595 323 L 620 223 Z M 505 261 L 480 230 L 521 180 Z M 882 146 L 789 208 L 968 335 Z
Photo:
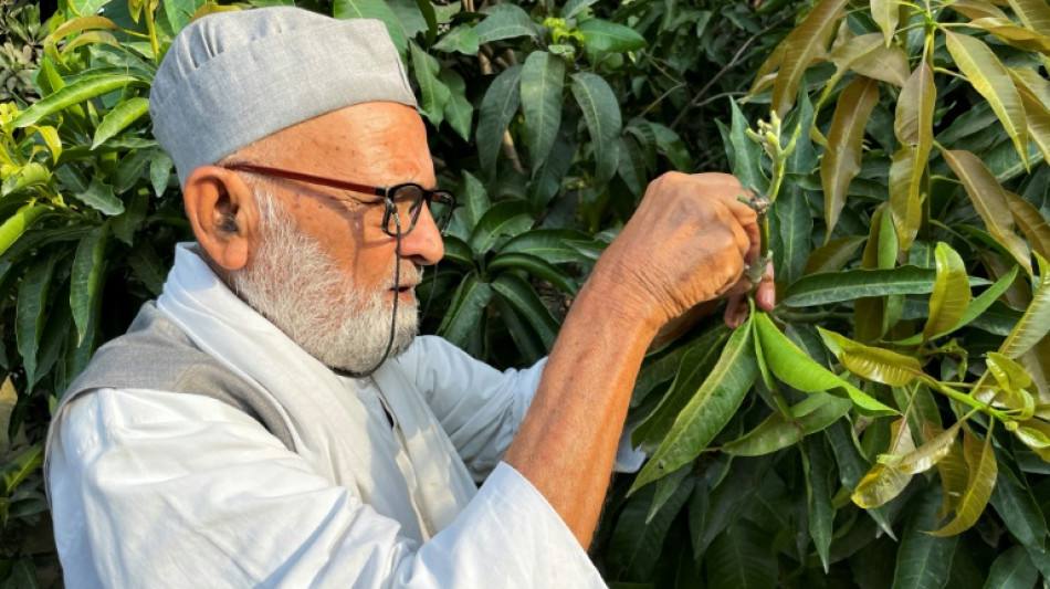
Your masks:
M 1028 124 L 1025 120 L 1025 106 L 1009 72 L 979 39 L 951 31 L 945 31 L 945 35 L 948 52 L 955 63 L 966 74 L 974 90 L 988 101 L 1007 135 L 1014 140 L 1021 161 L 1028 166 Z

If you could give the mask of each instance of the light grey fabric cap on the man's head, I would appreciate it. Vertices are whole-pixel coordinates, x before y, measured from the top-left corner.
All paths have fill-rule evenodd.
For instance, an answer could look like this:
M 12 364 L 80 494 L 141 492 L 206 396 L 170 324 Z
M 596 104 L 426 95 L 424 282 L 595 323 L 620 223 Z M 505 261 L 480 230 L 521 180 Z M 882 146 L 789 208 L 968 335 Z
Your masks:
M 185 186 L 198 167 L 283 128 L 379 101 L 416 107 L 382 22 L 276 7 L 183 29 L 157 70 L 149 114 Z

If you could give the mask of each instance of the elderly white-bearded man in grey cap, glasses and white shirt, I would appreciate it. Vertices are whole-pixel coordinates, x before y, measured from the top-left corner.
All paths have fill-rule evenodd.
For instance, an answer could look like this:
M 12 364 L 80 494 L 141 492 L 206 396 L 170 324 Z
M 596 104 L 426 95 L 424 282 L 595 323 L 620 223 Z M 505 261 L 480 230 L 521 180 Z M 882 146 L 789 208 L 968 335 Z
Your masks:
M 755 214 L 727 176 L 654 181 L 546 362 L 498 372 L 414 337 L 450 199 L 414 106 L 376 21 L 176 39 L 150 112 L 197 243 L 55 414 L 67 585 L 602 586 L 584 548 L 642 357 L 752 287 Z

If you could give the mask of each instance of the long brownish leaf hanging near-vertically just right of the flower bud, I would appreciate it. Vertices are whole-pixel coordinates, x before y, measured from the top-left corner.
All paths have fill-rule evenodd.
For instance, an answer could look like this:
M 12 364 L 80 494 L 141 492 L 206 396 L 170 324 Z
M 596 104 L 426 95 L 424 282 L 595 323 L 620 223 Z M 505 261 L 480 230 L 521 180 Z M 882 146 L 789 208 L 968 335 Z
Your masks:
M 825 190 L 827 234 L 831 234 L 846 204 L 850 181 L 860 171 L 864 125 L 879 103 L 879 84 L 858 77 L 839 97 L 828 134 L 828 149 L 820 159 L 820 180 Z

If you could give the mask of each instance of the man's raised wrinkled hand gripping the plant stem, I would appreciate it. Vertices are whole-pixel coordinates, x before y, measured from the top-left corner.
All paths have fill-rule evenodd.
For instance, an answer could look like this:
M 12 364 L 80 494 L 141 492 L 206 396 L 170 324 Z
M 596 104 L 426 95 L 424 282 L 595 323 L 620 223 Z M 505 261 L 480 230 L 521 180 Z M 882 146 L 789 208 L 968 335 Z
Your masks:
M 690 317 L 703 303 L 729 297 L 725 320 L 743 322 L 744 295 L 756 285 L 744 271 L 758 254 L 757 215 L 738 197 L 739 182 L 725 173 L 665 173 L 601 256 L 595 275 L 609 278 L 629 313 L 665 326 Z M 757 285 L 764 308 L 774 304 L 773 272 Z M 703 308 L 703 307 L 701 307 Z

